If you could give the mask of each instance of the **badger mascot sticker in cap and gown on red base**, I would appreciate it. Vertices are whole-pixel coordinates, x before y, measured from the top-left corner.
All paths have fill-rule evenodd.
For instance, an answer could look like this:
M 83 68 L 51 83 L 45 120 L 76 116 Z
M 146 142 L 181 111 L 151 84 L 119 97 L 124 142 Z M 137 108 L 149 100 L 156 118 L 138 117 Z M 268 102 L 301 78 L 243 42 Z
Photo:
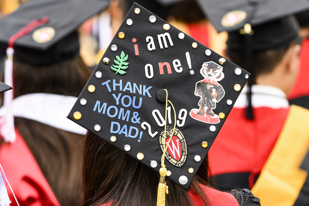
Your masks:
M 224 78 L 223 67 L 215 62 L 204 62 L 200 70 L 203 80 L 195 84 L 195 96 L 201 97 L 198 105 L 199 109 L 192 109 L 189 113 L 193 119 L 201 122 L 216 124 L 220 122 L 217 114 L 213 109 L 216 103 L 224 97 L 225 91 L 218 84 L 218 81 Z

